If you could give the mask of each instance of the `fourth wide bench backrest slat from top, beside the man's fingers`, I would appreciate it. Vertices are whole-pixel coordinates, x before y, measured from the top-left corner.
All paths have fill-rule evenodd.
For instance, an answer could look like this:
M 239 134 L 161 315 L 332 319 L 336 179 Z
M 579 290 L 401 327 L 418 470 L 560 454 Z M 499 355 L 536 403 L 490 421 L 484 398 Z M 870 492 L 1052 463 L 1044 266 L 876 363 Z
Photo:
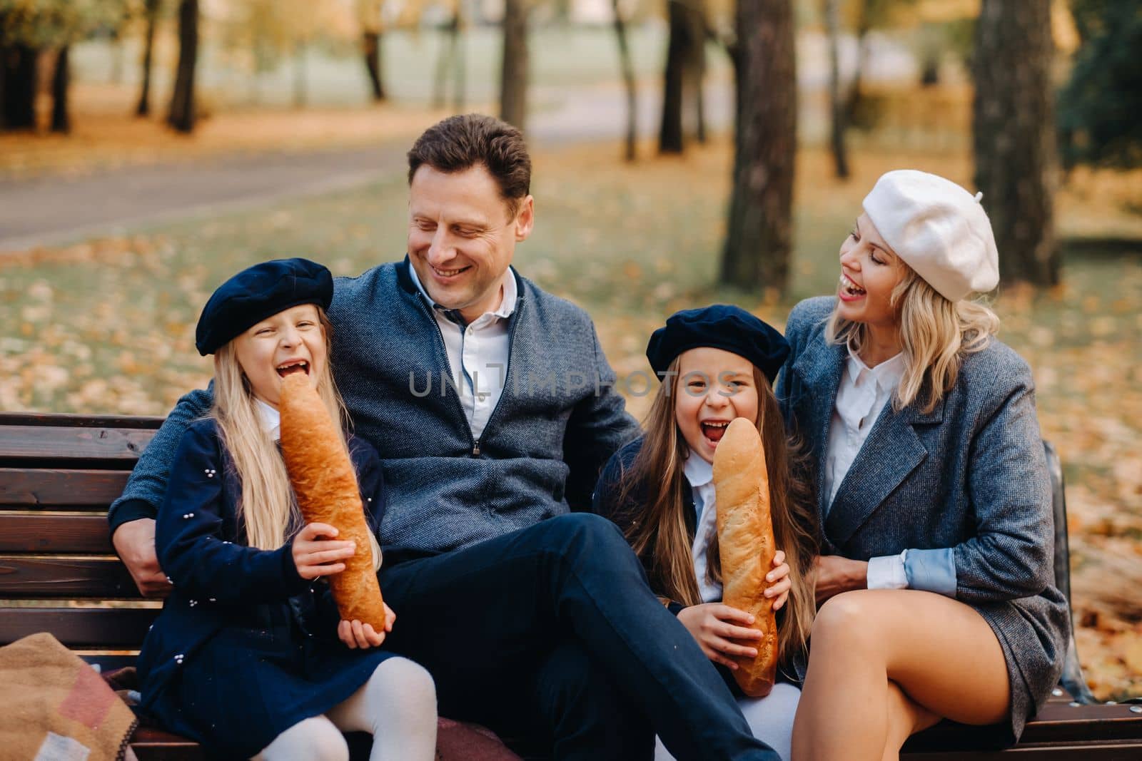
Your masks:
M 118 558 L 0 554 L 0 599 L 138 599 Z

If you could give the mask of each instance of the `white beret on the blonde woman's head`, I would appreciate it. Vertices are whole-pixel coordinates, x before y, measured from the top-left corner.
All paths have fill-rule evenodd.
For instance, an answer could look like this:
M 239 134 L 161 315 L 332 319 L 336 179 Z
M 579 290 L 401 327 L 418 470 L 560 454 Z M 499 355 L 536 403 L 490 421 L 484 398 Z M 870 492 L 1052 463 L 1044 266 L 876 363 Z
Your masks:
M 972 195 L 936 175 L 898 169 L 864 196 L 864 212 L 898 257 L 949 301 L 999 284 L 991 222 Z

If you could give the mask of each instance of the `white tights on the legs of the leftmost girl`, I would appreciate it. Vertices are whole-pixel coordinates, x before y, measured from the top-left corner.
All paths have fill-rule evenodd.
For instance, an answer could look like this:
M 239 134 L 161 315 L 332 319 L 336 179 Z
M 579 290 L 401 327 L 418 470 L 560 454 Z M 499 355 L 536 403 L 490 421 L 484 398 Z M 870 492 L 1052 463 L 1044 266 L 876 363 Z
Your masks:
M 345 702 L 324 715 L 297 722 L 254 761 L 348 761 L 341 730 L 372 734 L 369 761 L 432 761 L 436 754 L 432 677 L 408 658 L 388 658 Z

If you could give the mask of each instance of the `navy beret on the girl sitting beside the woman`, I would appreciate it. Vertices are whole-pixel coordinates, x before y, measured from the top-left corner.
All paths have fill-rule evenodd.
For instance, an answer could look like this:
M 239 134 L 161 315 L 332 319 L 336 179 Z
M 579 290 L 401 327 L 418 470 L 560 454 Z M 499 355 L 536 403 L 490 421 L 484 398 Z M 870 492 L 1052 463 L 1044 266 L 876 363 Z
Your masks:
M 646 358 L 662 377 L 676 356 L 689 349 L 725 349 L 756 365 L 770 383 L 789 356 L 789 342 L 777 330 L 741 307 L 715 303 L 701 309 L 683 309 L 650 337 Z

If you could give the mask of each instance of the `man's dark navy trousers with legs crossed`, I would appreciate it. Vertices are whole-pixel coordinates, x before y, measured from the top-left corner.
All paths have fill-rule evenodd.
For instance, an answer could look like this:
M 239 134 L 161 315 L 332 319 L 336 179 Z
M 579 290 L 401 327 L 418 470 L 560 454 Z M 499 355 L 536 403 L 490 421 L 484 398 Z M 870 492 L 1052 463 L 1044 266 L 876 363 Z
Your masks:
M 385 647 L 428 669 L 442 715 L 546 736 L 557 759 L 650 759 L 657 731 L 679 761 L 779 761 L 605 518 L 397 562 L 380 586 Z

